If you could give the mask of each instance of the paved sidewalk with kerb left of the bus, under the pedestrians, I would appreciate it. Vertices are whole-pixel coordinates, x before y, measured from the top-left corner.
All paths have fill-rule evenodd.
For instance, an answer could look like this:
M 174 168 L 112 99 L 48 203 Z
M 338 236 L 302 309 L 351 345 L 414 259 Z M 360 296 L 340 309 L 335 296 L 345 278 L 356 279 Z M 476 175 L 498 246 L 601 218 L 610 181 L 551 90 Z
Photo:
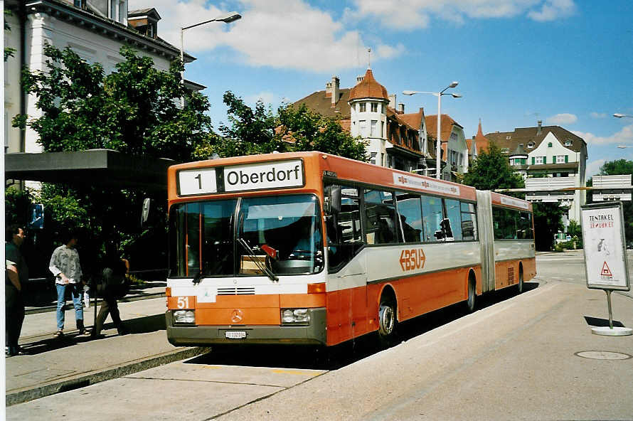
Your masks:
M 149 295 L 147 290 L 144 294 Z M 124 300 L 127 302 L 119 302 L 121 319 L 129 331 L 125 336 L 117 334 L 110 316 L 102 331 L 104 338 L 77 336 L 72 305 L 65 311 L 65 336 L 60 339 L 53 338 L 54 307 L 50 311 L 27 314 L 20 345 L 29 354 L 6 358 L 6 405 L 118 378 L 208 351 L 208 348 L 172 346 L 166 339 L 165 299 L 138 298 L 132 295 Z M 66 305 L 68 308 L 68 303 Z M 94 307 L 84 309 L 88 328 L 94 319 Z

